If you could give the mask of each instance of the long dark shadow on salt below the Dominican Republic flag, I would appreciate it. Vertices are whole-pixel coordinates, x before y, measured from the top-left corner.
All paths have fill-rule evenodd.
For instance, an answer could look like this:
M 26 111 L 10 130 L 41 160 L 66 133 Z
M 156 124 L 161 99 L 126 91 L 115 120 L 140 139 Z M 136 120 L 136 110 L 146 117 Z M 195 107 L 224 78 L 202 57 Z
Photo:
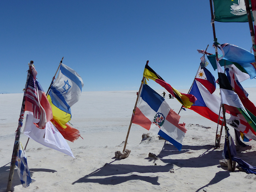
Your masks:
M 116 185 L 116 184 L 126 182 L 128 180 L 143 180 L 143 181 L 152 183 L 153 185 L 160 185 L 160 183 L 157 182 L 158 176 L 149 177 L 149 176 L 140 176 L 136 174 L 132 174 L 129 176 L 116 176 L 116 175 L 122 175 L 122 174 L 127 174 L 132 172 L 138 172 L 138 173 L 169 172 L 173 168 L 172 164 L 166 164 L 164 166 L 157 166 L 157 165 L 143 166 L 143 165 L 111 164 L 111 163 L 105 164 L 100 169 L 97 169 L 96 171 L 88 175 L 85 175 L 84 177 L 74 181 L 72 184 L 74 185 L 75 183 L 91 182 L 91 183 L 99 183 L 103 185 Z M 103 177 L 112 176 L 112 177 L 90 179 L 90 177 L 96 177 L 96 176 L 103 176 Z

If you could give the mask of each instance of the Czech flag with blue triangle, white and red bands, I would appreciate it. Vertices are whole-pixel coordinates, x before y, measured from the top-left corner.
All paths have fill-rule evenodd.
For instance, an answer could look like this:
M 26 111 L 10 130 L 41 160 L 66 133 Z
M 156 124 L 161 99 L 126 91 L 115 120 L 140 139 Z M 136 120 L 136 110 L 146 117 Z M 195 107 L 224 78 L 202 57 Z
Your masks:
M 215 123 L 218 123 L 220 112 L 220 98 L 214 94 L 211 94 L 197 80 L 194 81 L 189 93 L 195 95 L 195 97 L 197 98 L 195 104 L 193 104 L 189 109 L 195 111 L 199 115 Z M 223 117 L 222 113 L 220 113 L 220 117 Z M 219 124 L 221 124 L 221 121 L 219 121 Z

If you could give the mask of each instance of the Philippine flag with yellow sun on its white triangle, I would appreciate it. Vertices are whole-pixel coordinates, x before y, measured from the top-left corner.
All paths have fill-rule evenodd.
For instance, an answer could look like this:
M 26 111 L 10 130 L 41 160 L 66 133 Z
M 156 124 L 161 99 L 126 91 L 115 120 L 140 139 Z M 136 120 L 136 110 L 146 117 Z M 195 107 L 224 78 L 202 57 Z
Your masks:
M 215 78 L 206 68 L 199 69 L 196 74 L 196 80 L 199 81 L 212 94 L 216 89 Z

